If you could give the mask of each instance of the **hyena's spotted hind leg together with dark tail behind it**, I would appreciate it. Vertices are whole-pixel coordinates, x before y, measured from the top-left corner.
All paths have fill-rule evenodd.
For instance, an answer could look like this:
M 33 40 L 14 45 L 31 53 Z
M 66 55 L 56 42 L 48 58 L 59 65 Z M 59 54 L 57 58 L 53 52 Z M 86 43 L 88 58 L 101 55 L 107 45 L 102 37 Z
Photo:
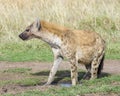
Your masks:
M 104 51 L 99 52 L 91 63 L 91 79 L 95 79 L 100 75 L 103 68 Z

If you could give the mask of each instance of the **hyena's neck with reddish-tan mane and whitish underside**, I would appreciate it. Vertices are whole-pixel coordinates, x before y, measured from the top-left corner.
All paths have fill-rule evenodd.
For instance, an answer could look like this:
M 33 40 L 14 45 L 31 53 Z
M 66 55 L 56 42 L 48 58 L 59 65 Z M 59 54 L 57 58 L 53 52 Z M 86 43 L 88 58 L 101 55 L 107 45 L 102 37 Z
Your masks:
M 60 48 L 62 43 L 62 36 L 66 32 L 66 28 L 41 21 L 40 37 L 47 42 L 51 47 Z

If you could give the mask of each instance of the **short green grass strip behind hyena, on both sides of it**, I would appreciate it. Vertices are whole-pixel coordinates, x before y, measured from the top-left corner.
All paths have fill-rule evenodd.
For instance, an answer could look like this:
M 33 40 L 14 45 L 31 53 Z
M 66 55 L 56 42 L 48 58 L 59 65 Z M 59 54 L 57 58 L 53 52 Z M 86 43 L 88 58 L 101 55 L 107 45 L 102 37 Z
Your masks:
M 0 47 L 0 61 L 52 61 L 51 48 L 38 41 L 6 44 Z M 35 42 L 35 43 L 34 43 Z M 37 43 L 36 43 L 37 42 Z M 108 43 L 106 59 L 120 59 L 120 43 Z

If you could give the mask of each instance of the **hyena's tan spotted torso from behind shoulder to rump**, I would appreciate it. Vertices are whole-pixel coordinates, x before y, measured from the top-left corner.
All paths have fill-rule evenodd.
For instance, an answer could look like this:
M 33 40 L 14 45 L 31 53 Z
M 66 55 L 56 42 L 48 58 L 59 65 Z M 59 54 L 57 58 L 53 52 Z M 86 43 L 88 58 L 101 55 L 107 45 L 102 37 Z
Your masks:
M 76 59 L 81 64 L 90 64 L 96 54 L 102 54 L 104 51 L 105 42 L 99 34 L 89 31 L 73 31 L 71 35 L 74 42 L 74 52 L 76 52 Z

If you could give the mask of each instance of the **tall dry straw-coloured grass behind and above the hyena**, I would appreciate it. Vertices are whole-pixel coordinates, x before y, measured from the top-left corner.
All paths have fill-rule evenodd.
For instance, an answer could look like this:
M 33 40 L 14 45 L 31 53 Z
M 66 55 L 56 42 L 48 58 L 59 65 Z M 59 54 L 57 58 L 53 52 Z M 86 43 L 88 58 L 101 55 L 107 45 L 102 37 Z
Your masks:
M 38 17 L 96 31 L 108 48 L 120 42 L 120 0 L 0 0 L 0 44 L 21 42 L 18 34 Z

